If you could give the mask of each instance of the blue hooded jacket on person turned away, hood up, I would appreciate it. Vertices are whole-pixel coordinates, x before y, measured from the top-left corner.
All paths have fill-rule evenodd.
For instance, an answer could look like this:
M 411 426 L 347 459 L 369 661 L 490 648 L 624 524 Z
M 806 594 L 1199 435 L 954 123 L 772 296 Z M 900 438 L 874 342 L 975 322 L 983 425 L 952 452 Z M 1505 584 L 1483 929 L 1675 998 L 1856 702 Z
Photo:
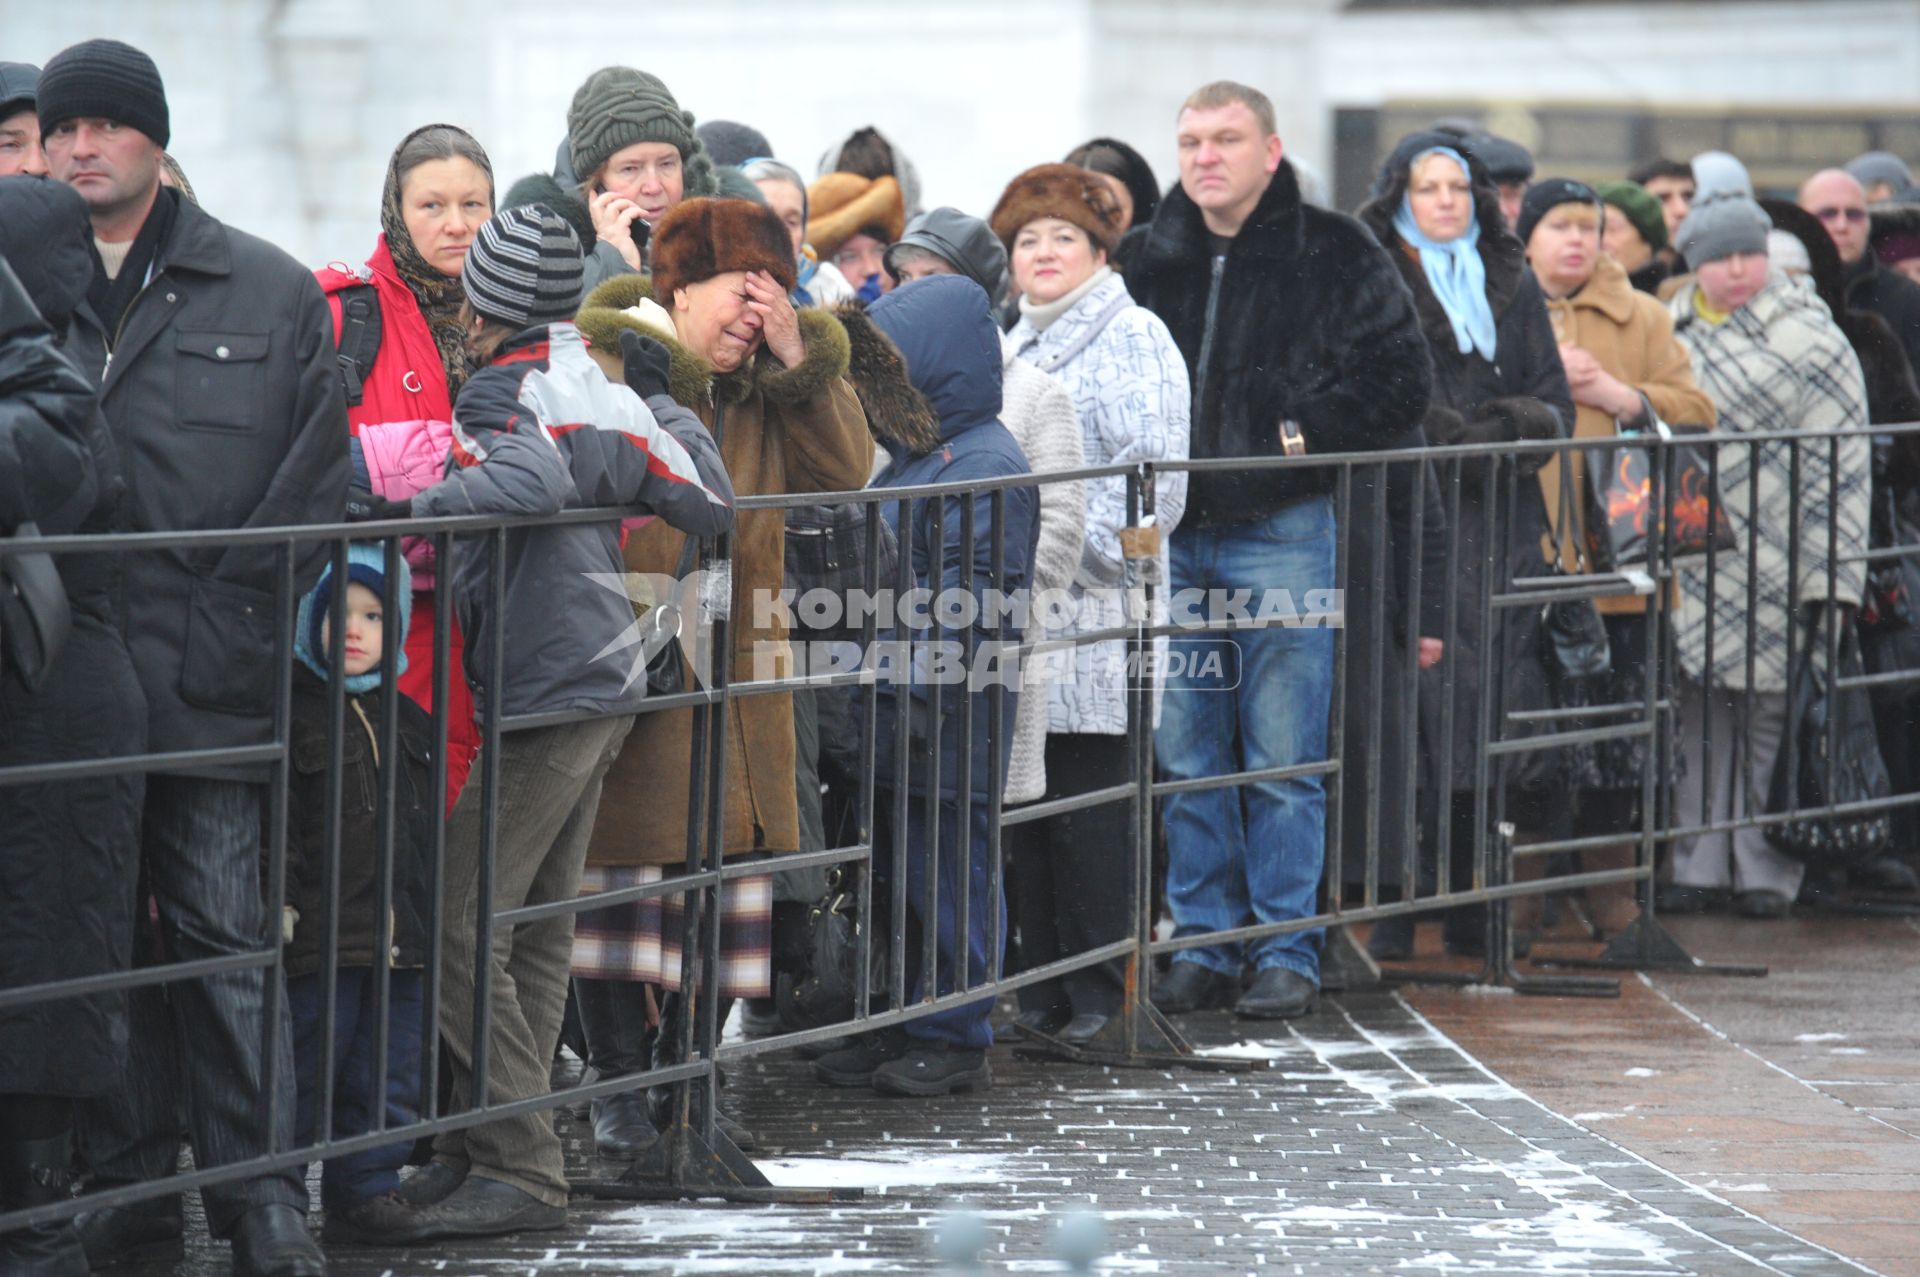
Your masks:
M 941 442 L 933 451 L 910 453 L 906 446 L 887 442 L 893 463 L 874 480 L 876 488 L 908 488 L 918 484 L 950 484 L 964 480 L 996 480 L 1010 474 L 1029 474 L 1027 457 L 1020 444 L 1000 424 L 1000 330 L 987 309 L 987 294 L 970 278 L 958 275 L 935 275 L 916 280 L 887 294 L 868 309 L 874 326 L 885 332 L 900 349 L 906 361 L 906 374 L 939 413 Z M 985 597 L 993 590 L 993 494 L 981 492 L 973 503 L 973 543 L 960 540 L 960 509 L 968 497 L 945 497 L 945 526 L 939 557 L 933 553 L 933 503 L 914 501 L 910 528 L 900 528 L 899 503 L 883 505 L 887 522 L 902 549 L 910 551 L 914 584 L 924 590 L 945 591 L 960 588 L 960 568 L 972 557 L 973 593 Z M 1002 591 L 1025 591 L 1033 570 L 1035 543 L 1041 532 L 1039 488 L 1006 488 L 1002 503 L 1002 526 L 998 543 L 1002 545 L 1004 578 Z M 910 540 L 908 540 L 910 538 Z M 973 620 L 975 643 L 1020 643 L 1023 639 L 1020 616 L 979 609 Z M 958 643 L 962 630 L 933 624 L 927 630 L 889 634 L 887 638 Z M 1004 678 L 1004 718 L 1000 732 L 1000 776 L 1006 776 L 1006 760 L 1014 743 L 1014 711 L 1018 705 L 1016 687 L 1018 664 L 1000 663 Z M 975 657 L 975 670 L 996 668 L 983 655 Z M 916 743 L 931 737 L 927 707 L 931 705 L 929 686 L 922 680 L 924 666 L 914 664 L 914 680 L 908 689 L 914 697 L 914 735 Z M 979 684 L 979 678 L 975 678 Z M 973 691 L 973 730 L 972 730 L 972 795 L 989 799 L 991 770 L 987 755 L 987 697 L 1002 689 L 1002 680 L 991 680 Z M 893 764 L 895 701 L 899 691 L 895 682 L 881 680 L 877 759 L 883 768 Z M 941 687 L 941 757 L 939 793 L 958 797 L 958 747 L 962 724 L 964 684 Z M 929 789 L 927 766 L 931 753 L 924 747 L 912 751 L 906 789 L 925 793 Z M 885 783 L 885 780 L 883 780 Z M 899 785 L 899 780 L 895 778 Z

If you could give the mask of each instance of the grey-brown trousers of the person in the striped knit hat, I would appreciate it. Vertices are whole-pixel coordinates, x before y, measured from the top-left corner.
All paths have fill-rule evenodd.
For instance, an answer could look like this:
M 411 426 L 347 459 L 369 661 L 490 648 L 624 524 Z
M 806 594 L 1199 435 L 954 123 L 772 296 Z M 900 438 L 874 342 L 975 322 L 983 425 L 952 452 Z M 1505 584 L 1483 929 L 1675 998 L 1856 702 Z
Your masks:
M 499 747 L 493 824 L 493 912 L 572 901 L 599 810 L 601 782 L 620 755 L 634 716 L 513 732 Z M 474 1095 L 474 983 L 480 920 L 482 764 L 474 762 L 447 820 L 447 910 L 442 954 L 440 1033 L 453 1060 L 453 1106 Z M 495 926 L 488 972 L 490 1104 L 549 1091 L 553 1048 L 566 1010 L 574 914 Z M 566 1168 L 553 1118 L 528 1112 L 434 1141 L 434 1156 L 482 1179 L 499 1179 L 549 1206 L 566 1204 Z

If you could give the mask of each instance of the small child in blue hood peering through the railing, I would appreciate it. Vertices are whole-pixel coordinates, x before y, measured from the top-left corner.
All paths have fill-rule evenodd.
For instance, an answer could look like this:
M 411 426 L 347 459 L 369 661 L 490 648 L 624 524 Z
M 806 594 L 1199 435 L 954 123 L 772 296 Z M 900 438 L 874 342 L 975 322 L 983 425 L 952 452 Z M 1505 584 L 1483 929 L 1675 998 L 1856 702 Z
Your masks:
M 388 616 L 382 599 L 392 593 L 397 614 Z M 386 1123 L 399 1127 L 419 1118 L 420 1104 L 420 968 L 426 964 L 430 916 L 428 897 L 428 805 L 432 772 L 428 743 L 432 720 L 426 711 L 396 697 L 399 768 L 394 797 L 392 847 L 392 926 L 384 949 L 380 939 L 380 791 L 382 791 L 382 701 L 380 653 L 396 645 L 394 674 L 407 668 L 399 638 L 407 632 L 413 584 L 407 561 L 399 559 L 399 580 L 386 590 L 386 553 L 376 543 L 348 547 L 348 597 L 342 638 L 332 636 L 334 570 L 326 572 L 301 599 L 294 628 L 292 705 L 292 783 L 286 816 L 286 995 L 294 1018 L 294 1073 L 298 1108 L 294 1133 L 311 1144 L 321 1095 L 332 1095 L 330 1135 L 365 1135 L 374 1121 L 374 1041 L 378 1029 L 378 977 L 388 968 L 386 1041 Z M 346 722 L 340 737 L 340 895 L 334 912 L 338 947 L 332 976 L 336 987 L 334 1037 L 323 1039 L 326 999 L 326 912 L 330 897 L 326 820 L 330 695 L 328 672 L 340 663 L 346 684 Z M 409 1141 L 365 1152 L 328 1158 L 321 1173 L 321 1206 L 326 1212 L 324 1237 L 334 1242 L 374 1242 L 411 1212 L 394 1196 L 399 1168 L 407 1162 Z

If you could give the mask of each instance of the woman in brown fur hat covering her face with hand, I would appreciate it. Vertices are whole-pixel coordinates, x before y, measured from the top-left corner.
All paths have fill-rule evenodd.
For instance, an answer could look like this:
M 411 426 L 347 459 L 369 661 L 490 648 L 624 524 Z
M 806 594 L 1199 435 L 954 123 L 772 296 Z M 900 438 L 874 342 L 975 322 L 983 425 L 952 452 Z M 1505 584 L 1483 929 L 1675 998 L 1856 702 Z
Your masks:
M 745 200 L 687 200 L 655 229 L 653 275 L 611 278 L 588 296 L 580 330 L 609 378 L 620 378 L 620 330 L 662 349 L 676 401 L 720 442 L 737 494 L 845 492 L 874 465 L 866 413 L 847 382 L 841 323 L 795 311 L 793 240 L 780 217 Z M 925 426 L 931 446 L 931 426 Z M 664 524 L 626 543 L 630 572 L 682 576 L 685 538 Z M 778 597 L 785 565 L 781 511 L 743 513 L 732 542 L 733 624 L 728 680 L 791 676 L 787 626 L 758 601 Z M 691 686 L 691 682 L 689 682 Z M 582 893 L 659 881 L 687 856 L 693 712 L 643 712 L 593 826 Z M 728 856 L 801 847 L 793 787 L 793 703 L 755 695 L 726 709 L 724 812 Z M 728 883 L 718 993 L 766 997 L 772 878 Z M 574 977 L 589 1064 L 603 1077 L 647 1066 L 645 985 L 680 985 L 680 899 L 641 901 L 580 916 Z M 634 1095 L 611 1096 L 595 1121 L 601 1156 L 637 1156 L 653 1139 Z M 735 1139 L 743 1133 L 732 1131 Z

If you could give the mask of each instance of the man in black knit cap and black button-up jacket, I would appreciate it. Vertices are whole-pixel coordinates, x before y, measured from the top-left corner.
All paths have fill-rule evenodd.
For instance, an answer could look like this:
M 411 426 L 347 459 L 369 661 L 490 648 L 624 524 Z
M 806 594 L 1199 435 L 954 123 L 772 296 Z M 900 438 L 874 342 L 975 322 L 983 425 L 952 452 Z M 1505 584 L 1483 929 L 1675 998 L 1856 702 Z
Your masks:
M 348 421 L 332 323 L 313 275 L 223 227 L 159 182 L 167 96 L 154 61 L 117 40 L 58 54 L 40 75 L 40 133 L 58 181 L 86 200 L 98 271 L 69 349 L 100 384 L 127 469 L 117 526 L 136 532 L 330 522 L 348 486 Z M 163 549 L 121 559 L 121 628 L 146 689 L 148 749 L 230 751 L 275 741 L 278 590 L 305 590 L 324 545 Z M 142 864 L 173 960 L 265 951 L 278 916 L 261 899 L 267 764 L 200 762 L 148 780 Z M 100 1183 L 165 1175 L 184 1091 L 194 1160 L 223 1166 L 292 1146 L 294 1070 L 275 968 L 134 993 L 127 1085 L 92 1106 L 83 1137 Z M 271 995 L 271 997 L 269 997 Z M 263 1035 L 261 1018 L 275 1024 Z M 144 1031 L 142 1031 L 144 1029 Z M 263 1095 L 263 1037 L 276 1052 Z M 179 1060 L 179 1070 L 171 1064 Z M 276 1114 L 273 1129 L 263 1114 Z M 307 1237 L 292 1169 L 204 1189 L 207 1225 L 234 1242 L 236 1273 L 305 1277 L 326 1264 Z M 100 1267 L 175 1244 L 179 1198 L 94 1212 L 81 1223 Z

